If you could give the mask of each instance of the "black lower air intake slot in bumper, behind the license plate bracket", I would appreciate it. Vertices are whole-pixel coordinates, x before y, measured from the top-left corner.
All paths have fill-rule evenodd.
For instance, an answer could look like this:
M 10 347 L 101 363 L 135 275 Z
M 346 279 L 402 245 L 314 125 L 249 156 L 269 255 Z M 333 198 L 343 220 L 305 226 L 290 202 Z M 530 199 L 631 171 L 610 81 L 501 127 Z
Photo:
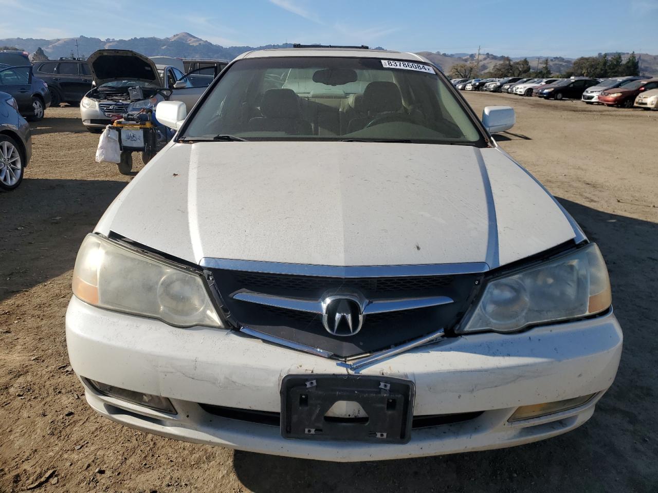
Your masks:
M 261 425 L 280 426 L 280 413 L 270 411 L 255 411 L 250 409 L 226 408 L 225 406 L 213 406 L 211 404 L 199 404 L 201 409 L 209 414 L 245 421 L 246 423 L 258 423 Z M 463 423 L 480 416 L 482 411 L 472 413 L 455 414 L 432 414 L 413 417 L 413 429 L 430 428 L 441 425 Z

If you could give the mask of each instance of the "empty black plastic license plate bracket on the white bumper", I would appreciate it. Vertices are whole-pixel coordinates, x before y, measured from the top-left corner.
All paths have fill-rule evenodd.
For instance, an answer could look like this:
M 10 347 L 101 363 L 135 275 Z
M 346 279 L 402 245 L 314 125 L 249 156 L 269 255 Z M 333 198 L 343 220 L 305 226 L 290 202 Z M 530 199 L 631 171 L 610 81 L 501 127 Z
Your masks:
M 407 443 L 415 385 L 370 375 L 287 375 L 281 383 L 281 435 L 299 440 Z M 356 402 L 364 417 L 334 417 L 336 402 Z

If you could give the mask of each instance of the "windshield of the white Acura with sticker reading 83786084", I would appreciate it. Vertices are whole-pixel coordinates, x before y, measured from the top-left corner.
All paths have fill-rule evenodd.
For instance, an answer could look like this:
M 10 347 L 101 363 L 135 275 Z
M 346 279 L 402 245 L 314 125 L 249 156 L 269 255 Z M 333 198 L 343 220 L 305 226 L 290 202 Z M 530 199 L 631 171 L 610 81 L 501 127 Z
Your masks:
M 434 68 L 372 58 L 239 60 L 182 137 L 220 134 L 247 140 L 484 143 Z

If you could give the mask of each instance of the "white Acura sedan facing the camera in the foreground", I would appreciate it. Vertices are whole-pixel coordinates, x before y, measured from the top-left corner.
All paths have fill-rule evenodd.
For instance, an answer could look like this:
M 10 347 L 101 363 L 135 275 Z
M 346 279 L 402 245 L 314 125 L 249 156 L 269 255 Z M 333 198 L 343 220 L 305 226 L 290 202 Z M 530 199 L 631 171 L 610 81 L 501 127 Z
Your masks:
M 429 60 L 240 55 L 82 243 L 93 410 L 178 440 L 363 461 L 587 421 L 622 333 L 595 243 Z M 582 435 L 578 437 L 582 440 Z

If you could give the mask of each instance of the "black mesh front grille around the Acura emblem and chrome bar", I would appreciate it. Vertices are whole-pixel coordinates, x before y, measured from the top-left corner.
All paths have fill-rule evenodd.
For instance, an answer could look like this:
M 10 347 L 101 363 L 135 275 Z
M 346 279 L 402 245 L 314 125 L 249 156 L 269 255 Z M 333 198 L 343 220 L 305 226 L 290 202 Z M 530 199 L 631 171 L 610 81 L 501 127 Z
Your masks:
M 229 319 L 236 325 L 246 325 L 340 357 L 387 349 L 438 329 L 451 329 L 467 310 L 468 302 L 482 279 L 480 274 L 350 278 L 223 269 L 213 270 L 213 275 Z M 324 329 L 320 314 L 274 308 L 231 297 L 236 291 L 247 290 L 272 296 L 320 300 L 327 291 L 338 289 L 359 291 L 368 300 L 447 296 L 453 303 L 366 315 L 359 333 L 340 337 Z

